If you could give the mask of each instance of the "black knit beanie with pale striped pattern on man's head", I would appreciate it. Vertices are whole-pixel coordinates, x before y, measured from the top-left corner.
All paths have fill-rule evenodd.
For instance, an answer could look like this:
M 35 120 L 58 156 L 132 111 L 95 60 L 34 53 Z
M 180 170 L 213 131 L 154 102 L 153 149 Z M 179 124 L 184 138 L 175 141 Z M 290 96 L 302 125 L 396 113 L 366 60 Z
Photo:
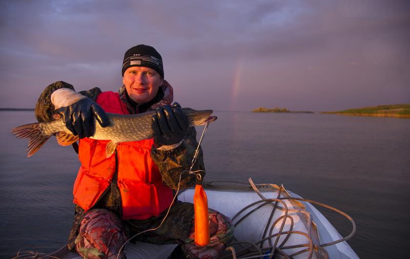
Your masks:
M 157 71 L 163 78 L 162 57 L 151 46 L 141 44 L 127 50 L 122 63 L 122 76 L 130 67 L 149 67 Z

